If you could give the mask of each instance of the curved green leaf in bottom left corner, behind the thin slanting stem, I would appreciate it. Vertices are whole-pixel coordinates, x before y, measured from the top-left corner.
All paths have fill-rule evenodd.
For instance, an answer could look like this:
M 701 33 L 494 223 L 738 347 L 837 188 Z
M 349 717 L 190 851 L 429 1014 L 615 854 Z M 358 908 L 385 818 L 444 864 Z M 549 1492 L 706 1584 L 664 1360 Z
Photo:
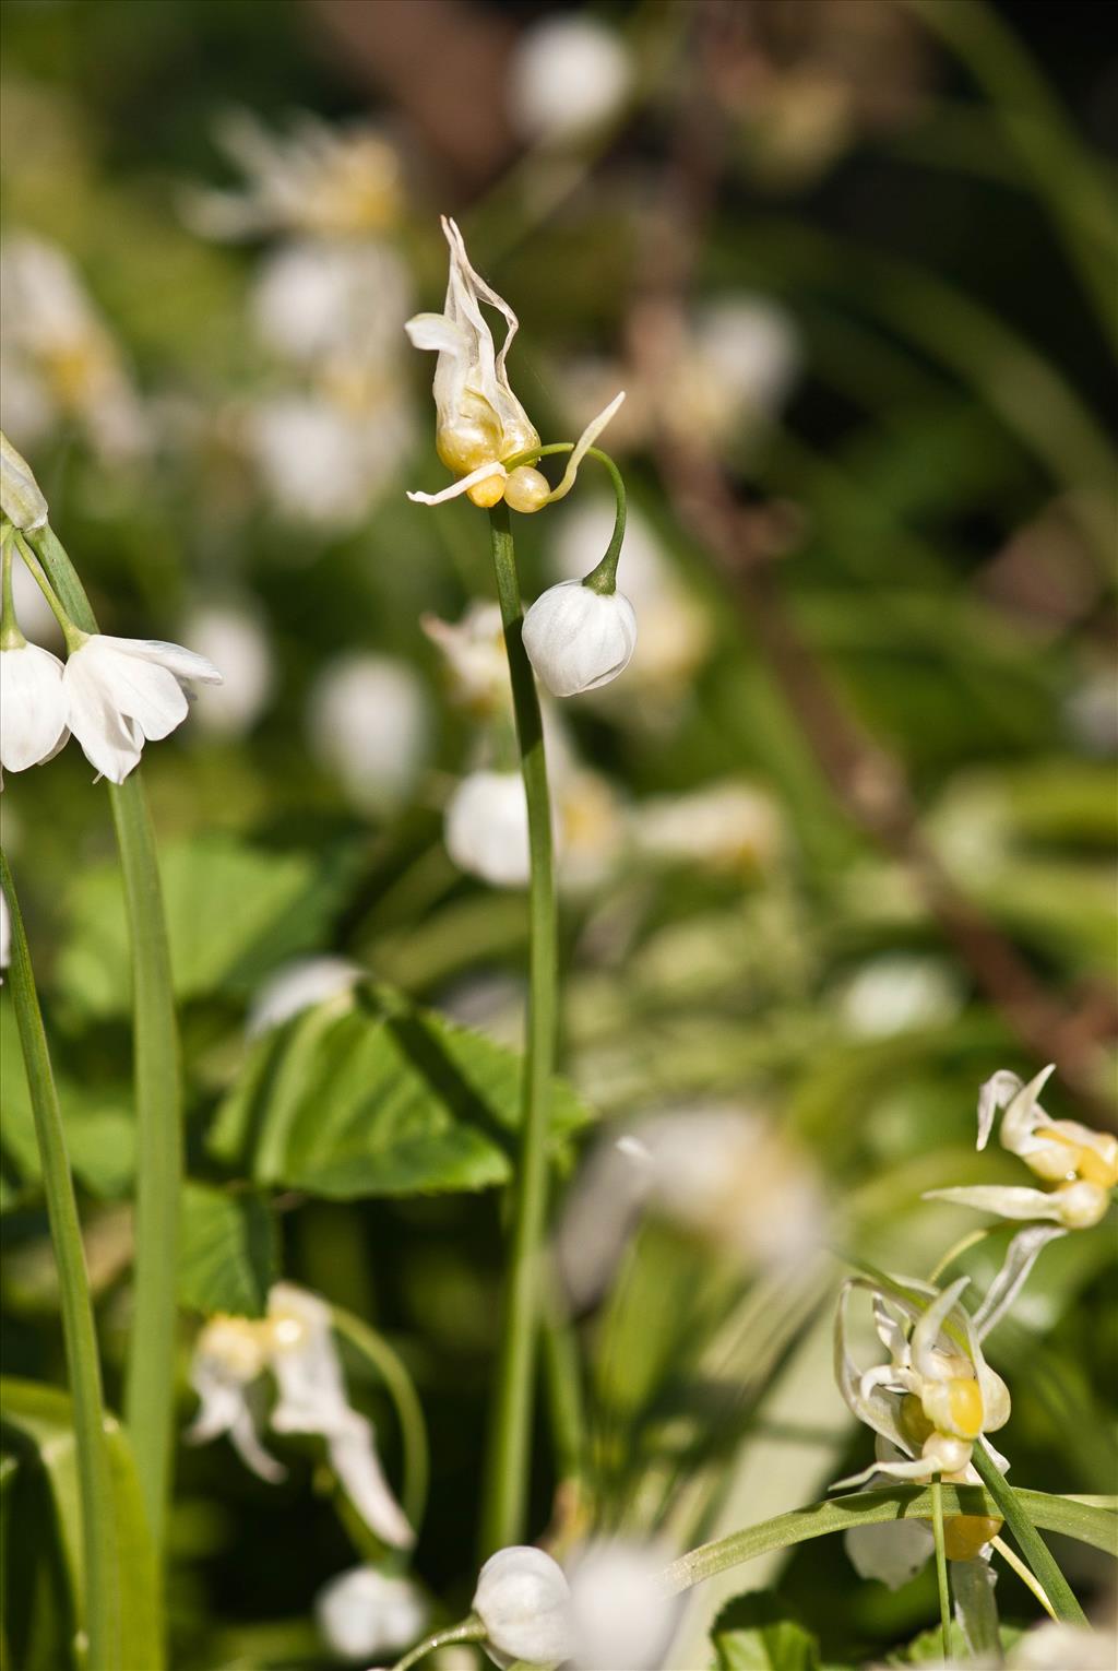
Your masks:
M 0 1382 L 0 1427 L 20 1470 L 30 1467 L 42 1470 L 45 1475 L 55 1519 L 53 1552 L 62 1557 L 60 1576 L 69 1591 L 69 1609 L 72 1611 L 75 1628 L 80 1628 L 85 1608 L 85 1581 L 79 1521 L 77 1445 L 74 1442 L 70 1400 L 55 1387 L 43 1387 L 30 1380 L 5 1379 Z M 120 1569 L 120 1664 L 159 1671 L 164 1664 L 159 1624 L 159 1574 L 147 1534 L 132 1449 L 124 1429 L 110 1415 L 105 1417 L 105 1442 L 114 1501 L 115 1556 Z M 27 1551 L 18 1547 L 20 1539 L 7 1539 L 5 1542 L 7 1559 L 25 1557 Z M 40 1551 L 40 1554 L 43 1552 Z M 52 1557 L 52 1554 L 45 1554 L 47 1561 Z M 38 1564 L 35 1561 L 33 1569 Z M 53 1596 L 53 1601 L 50 1601 L 42 1586 L 37 1586 L 37 1591 L 38 1594 L 32 1597 L 30 1614 L 22 1606 L 10 1609 L 17 1614 L 13 1626 L 20 1624 L 22 1629 L 28 1631 L 30 1638 L 35 1638 L 42 1631 L 42 1624 L 33 1618 L 33 1604 L 42 1599 L 47 1606 L 58 1606 L 58 1596 Z M 12 1584 L 8 1586 L 8 1596 L 17 1602 L 22 1601 Z M 67 1604 L 65 1597 L 64 1604 Z M 25 1614 L 25 1618 L 18 1618 L 18 1614 Z

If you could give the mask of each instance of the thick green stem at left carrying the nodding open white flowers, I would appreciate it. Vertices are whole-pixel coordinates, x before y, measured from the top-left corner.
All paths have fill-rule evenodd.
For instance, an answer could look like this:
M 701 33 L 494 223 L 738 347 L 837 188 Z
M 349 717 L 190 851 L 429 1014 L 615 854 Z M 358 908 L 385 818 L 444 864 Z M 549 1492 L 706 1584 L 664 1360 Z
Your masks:
M 99 628 L 89 598 L 55 533 L 45 526 L 25 538 L 69 618 L 82 632 L 95 633 Z M 155 836 L 139 769 L 124 784 L 110 785 L 109 799 L 132 941 L 137 1111 L 135 1298 L 124 1414 L 159 1557 L 170 1487 L 174 1417 L 182 1188 L 179 1033 Z

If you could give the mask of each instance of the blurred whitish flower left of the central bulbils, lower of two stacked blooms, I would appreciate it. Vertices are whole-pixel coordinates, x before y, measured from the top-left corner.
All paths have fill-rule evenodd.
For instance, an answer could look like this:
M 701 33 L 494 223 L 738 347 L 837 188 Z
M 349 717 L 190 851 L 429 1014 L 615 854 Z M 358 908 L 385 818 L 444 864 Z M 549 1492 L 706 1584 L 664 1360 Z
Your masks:
M 244 409 L 244 444 L 276 510 L 296 523 L 363 521 L 411 446 L 411 408 L 394 384 L 373 406 L 277 394 Z

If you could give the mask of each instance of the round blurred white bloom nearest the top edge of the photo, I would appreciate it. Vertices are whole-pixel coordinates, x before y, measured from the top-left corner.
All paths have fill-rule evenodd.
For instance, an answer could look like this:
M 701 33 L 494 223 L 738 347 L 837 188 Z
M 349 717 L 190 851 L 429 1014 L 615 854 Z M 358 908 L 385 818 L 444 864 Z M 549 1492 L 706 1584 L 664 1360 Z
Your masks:
M 508 110 L 530 140 L 562 144 L 607 122 L 633 65 L 620 35 L 592 17 L 548 17 L 521 30 L 508 67 Z

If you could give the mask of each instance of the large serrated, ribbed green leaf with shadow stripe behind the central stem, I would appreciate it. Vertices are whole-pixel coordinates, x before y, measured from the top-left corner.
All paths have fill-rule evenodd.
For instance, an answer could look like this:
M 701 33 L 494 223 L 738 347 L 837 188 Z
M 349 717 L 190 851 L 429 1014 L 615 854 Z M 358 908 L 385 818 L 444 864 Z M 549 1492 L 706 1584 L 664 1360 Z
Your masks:
M 511 1176 L 521 1061 L 384 989 L 296 1016 L 259 1039 L 211 1151 L 261 1185 L 334 1200 L 483 1190 Z M 553 1081 L 553 1146 L 590 1120 Z

